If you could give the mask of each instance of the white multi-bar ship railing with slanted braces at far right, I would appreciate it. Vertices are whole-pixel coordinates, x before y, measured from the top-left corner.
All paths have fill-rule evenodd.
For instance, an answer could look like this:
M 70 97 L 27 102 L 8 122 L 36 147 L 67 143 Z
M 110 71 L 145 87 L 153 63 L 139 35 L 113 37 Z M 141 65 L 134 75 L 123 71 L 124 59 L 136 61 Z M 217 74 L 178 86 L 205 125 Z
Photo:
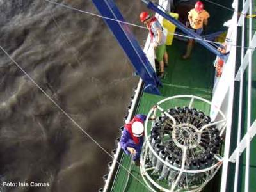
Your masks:
M 234 15 L 237 16 L 237 7 L 238 7 L 238 2 L 235 0 L 233 3 L 233 8 L 236 10 L 234 12 Z M 252 54 L 255 50 L 256 47 L 256 33 L 252 36 L 252 17 L 249 17 L 249 28 L 248 28 L 248 49 L 246 50 L 246 53 L 244 54 L 244 40 L 245 40 L 245 15 L 246 14 L 252 15 L 252 0 L 243 0 L 243 10 L 242 14 L 240 15 L 238 22 L 236 22 L 236 29 L 237 26 L 242 29 L 242 36 L 241 36 L 241 65 L 239 67 L 239 70 L 237 71 L 236 77 L 234 78 L 234 81 L 240 81 L 240 86 L 239 86 L 239 113 L 238 113 L 238 124 L 237 124 L 237 147 L 232 152 L 231 156 L 229 156 L 229 151 L 226 154 L 226 146 L 227 142 L 230 143 L 230 141 L 226 140 L 226 145 L 225 145 L 225 157 L 224 158 L 224 163 L 223 163 L 223 172 L 222 172 L 222 177 L 221 177 L 221 192 L 228 191 L 227 189 L 227 175 L 228 175 L 228 163 L 236 163 L 236 170 L 235 170 L 235 175 L 234 175 L 234 192 L 239 191 L 237 189 L 238 187 L 238 176 L 239 176 L 239 157 L 241 154 L 246 150 L 246 161 L 245 161 L 245 179 L 244 179 L 244 189 L 241 189 L 244 192 L 249 192 L 249 178 L 250 178 L 250 144 L 252 138 L 256 134 L 256 120 L 253 121 L 253 124 L 251 122 L 251 111 L 252 111 Z M 232 26 L 230 27 L 232 28 Z M 235 62 L 234 62 L 235 64 Z M 247 97 L 247 111 L 242 109 L 242 104 L 243 104 L 243 86 L 244 86 L 244 72 L 248 69 L 248 97 Z M 232 84 L 229 86 L 229 92 L 230 89 L 234 90 L 234 81 L 232 81 Z M 233 87 L 233 88 L 232 88 Z M 255 97 L 255 95 L 254 95 Z M 231 99 L 231 98 L 230 98 Z M 233 100 L 233 98 L 232 98 Z M 228 102 L 232 102 L 232 100 L 228 99 Z M 242 124 L 242 115 L 243 113 L 247 112 L 247 127 L 246 127 L 246 133 L 244 134 L 244 137 L 241 140 L 241 124 Z M 234 117 L 234 115 L 233 115 Z M 228 116 L 227 116 L 228 118 Z M 230 116 L 232 120 L 232 116 Z M 236 117 L 235 117 L 236 118 Z M 231 128 L 231 127 L 230 127 Z M 228 129 L 228 127 L 227 127 Z M 228 134 L 231 133 L 228 132 Z M 229 147 L 228 147 L 229 149 Z M 228 155 L 228 156 L 227 156 Z M 228 157 L 228 160 L 227 160 Z

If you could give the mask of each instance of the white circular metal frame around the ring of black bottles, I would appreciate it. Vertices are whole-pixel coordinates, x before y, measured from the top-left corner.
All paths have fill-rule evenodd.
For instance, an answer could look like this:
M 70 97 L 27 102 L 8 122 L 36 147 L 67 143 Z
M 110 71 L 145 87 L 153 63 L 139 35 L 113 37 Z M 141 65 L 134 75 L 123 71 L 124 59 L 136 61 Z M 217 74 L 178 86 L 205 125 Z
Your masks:
M 195 102 L 196 99 L 209 104 L 209 106 L 212 106 L 212 103 L 209 102 L 208 100 L 203 99 L 201 97 L 193 96 L 193 95 L 177 95 L 177 96 L 173 96 L 173 97 L 168 97 L 166 99 L 163 99 L 163 100 L 157 102 L 157 104 L 156 104 L 157 110 L 161 111 L 161 113 L 164 113 L 164 115 L 166 115 L 169 118 L 170 123 L 173 125 L 173 131 L 172 131 L 173 142 L 175 143 L 175 145 L 177 145 L 177 147 L 180 147 L 182 150 L 182 164 L 181 164 L 180 168 L 173 166 L 172 164 L 164 161 L 164 159 L 159 157 L 159 155 L 154 151 L 154 148 L 152 148 L 152 146 L 150 144 L 150 134 L 148 132 L 148 120 L 149 120 L 150 116 L 152 115 L 152 113 L 154 112 L 154 108 L 150 109 L 150 111 L 148 112 L 147 120 L 145 121 L 145 143 L 143 145 L 140 171 L 141 171 L 141 175 L 143 176 L 143 180 L 145 181 L 145 183 L 148 186 L 152 186 L 152 184 L 153 184 L 153 186 L 155 188 L 160 189 L 161 191 L 173 191 L 175 189 L 175 186 L 177 186 L 177 183 L 179 182 L 179 179 L 182 174 L 203 173 L 203 172 L 209 172 L 211 170 L 212 170 L 211 172 L 215 174 L 217 172 L 217 170 L 220 168 L 222 161 L 223 161 L 222 160 L 223 157 L 221 157 L 218 154 L 215 154 L 214 159 L 216 159 L 216 163 L 212 164 L 212 166 L 210 166 L 208 168 L 202 168 L 200 170 L 187 170 L 185 168 L 187 150 L 189 150 L 191 148 L 198 147 L 200 140 L 201 140 L 202 133 L 207 131 L 207 129 L 209 129 L 209 127 L 211 127 L 212 125 L 221 124 L 222 127 L 221 127 L 220 131 L 224 132 L 225 127 L 226 127 L 226 124 L 225 124 L 226 118 L 225 118 L 225 115 L 223 114 L 223 112 L 218 107 L 214 106 L 214 108 L 218 111 L 218 114 L 220 114 L 220 117 L 222 118 L 221 120 L 218 120 L 216 122 L 211 122 L 209 124 L 205 124 L 204 126 L 202 126 L 202 128 L 200 130 L 196 126 L 191 125 L 191 124 L 186 124 L 186 123 L 177 124 L 175 118 L 172 115 L 170 115 L 169 113 L 167 113 L 166 111 L 164 111 L 163 108 L 161 108 L 161 104 L 163 104 L 166 101 L 173 100 L 173 99 L 190 99 L 189 100 L 189 108 L 191 108 L 193 106 L 193 103 Z M 156 112 L 154 112 L 154 113 L 156 113 Z M 152 129 L 152 126 L 151 126 L 151 129 Z M 192 137 L 195 139 L 193 141 L 189 140 L 189 138 L 192 138 Z M 182 138 L 182 139 L 180 139 L 180 138 Z M 176 170 L 177 173 L 179 173 L 179 175 L 177 176 L 177 179 L 175 180 L 175 182 L 173 182 L 171 189 L 163 188 L 163 186 L 157 184 L 157 182 L 150 177 L 150 174 L 148 173 L 149 169 L 146 168 L 146 159 L 147 159 L 148 150 L 157 158 L 157 160 L 161 161 L 161 163 L 168 166 L 168 168 L 170 168 L 172 170 Z M 212 175 L 212 177 L 213 177 L 213 175 Z M 192 192 L 192 191 L 198 191 L 199 189 L 202 189 L 209 180 L 210 179 L 206 180 L 205 183 L 201 184 L 196 189 L 192 189 L 189 191 Z

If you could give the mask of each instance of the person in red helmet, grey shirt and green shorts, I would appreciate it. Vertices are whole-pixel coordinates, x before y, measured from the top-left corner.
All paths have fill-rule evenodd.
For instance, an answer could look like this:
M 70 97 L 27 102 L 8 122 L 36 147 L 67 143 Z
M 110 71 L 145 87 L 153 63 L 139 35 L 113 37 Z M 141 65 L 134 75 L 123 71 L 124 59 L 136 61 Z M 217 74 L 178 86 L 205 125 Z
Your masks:
M 165 47 L 166 35 L 163 33 L 163 27 L 156 17 L 151 17 L 148 12 L 141 12 L 140 20 L 143 24 L 147 25 L 150 32 L 151 42 L 156 51 L 156 59 L 160 65 L 159 77 L 163 78 L 164 65 L 168 66 L 168 54 Z

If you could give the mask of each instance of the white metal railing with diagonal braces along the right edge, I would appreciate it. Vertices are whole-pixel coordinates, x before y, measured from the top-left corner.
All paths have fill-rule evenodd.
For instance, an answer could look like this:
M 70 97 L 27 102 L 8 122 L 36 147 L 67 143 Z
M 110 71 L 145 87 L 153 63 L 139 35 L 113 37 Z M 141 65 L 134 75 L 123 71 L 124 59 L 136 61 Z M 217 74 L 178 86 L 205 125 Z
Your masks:
M 241 30 L 241 65 L 239 66 L 239 69 L 237 70 L 236 76 L 234 76 L 234 79 L 232 82 L 228 84 L 228 110 L 230 113 L 228 113 L 227 119 L 227 132 L 226 132 L 226 141 L 225 141 L 225 155 L 224 155 L 224 161 L 223 161 L 223 170 L 222 170 L 222 176 L 221 176 L 221 192 L 230 191 L 230 189 L 227 187 L 227 176 L 228 176 L 228 165 L 230 163 L 236 164 L 235 169 L 235 175 L 234 175 L 234 192 L 237 191 L 244 191 L 249 192 L 250 186 L 249 186 L 249 180 L 250 180 L 250 145 L 251 140 L 256 134 L 256 120 L 252 120 L 252 54 L 255 51 L 256 47 L 256 33 L 252 35 L 252 17 L 248 18 L 249 22 L 249 28 L 248 28 L 248 42 L 249 45 L 244 48 L 245 46 L 245 18 L 246 15 L 252 15 L 252 0 L 243 0 L 243 10 L 241 10 L 241 14 L 238 15 L 239 9 L 238 4 L 239 2 L 237 0 L 234 0 L 232 6 L 234 8 L 234 15 L 232 19 L 232 25 L 230 26 L 230 31 L 234 33 L 235 35 L 232 35 L 232 44 L 237 45 L 236 39 L 237 39 L 237 30 Z M 237 20 L 237 18 L 239 18 Z M 234 47 L 234 46 L 233 46 Z M 232 49 L 232 48 L 231 48 Z M 236 50 L 239 50 L 236 48 Z M 230 52 L 231 53 L 231 52 Z M 236 54 L 234 54 L 234 61 L 233 65 L 236 63 Z M 238 61 L 238 62 L 240 62 Z M 233 68 L 234 69 L 234 68 Z M 247 70 L 247 77 L 248 77 L 248 93 L 247 93 L 247 100 L 246 98 L 243 98 L 243 90 L 244 90 L 244 72 Z M 220 79 L 221 80 L 221 79 Z M 230 153 L 230 138 L 231 138 L 231 130 L 232 130 L 232 117 L 237 118 L 236 114 L 232 113 L 233 108 L 233 98 L 234 98 L 234 82 L 239 82 L 239 107 L 238 107 L 238 124 L 237 124 L 237 145 L 233 152 Z M 220 82 L 219 82 L 220 83 Z M 243 109 L 243 99 L 246 100 L 246 106 L 247 110 Z M 223 102 L 223 100 L 221 101 Z M 221 104 L 223 105 L 223 104 Z M 254 106 L 255 107 L 255 106 Z M 244 130 L 245 134 L 243 138 L 241 139 L 241 128 L 242 128 L 242 116 L 246 116 L 246 130 Z M 252 123 L 253 122 L 253 123 Z M 233 130 L 236 130 L 236 127 L 233 127 Z M 241 161 L 239 161 L 241 154 L 243 152 L 246 152 L 246 158 L 245 158 L 245 177 L 244 177 L 244 188 L 239 189 L 239 166 L 241 166 Z

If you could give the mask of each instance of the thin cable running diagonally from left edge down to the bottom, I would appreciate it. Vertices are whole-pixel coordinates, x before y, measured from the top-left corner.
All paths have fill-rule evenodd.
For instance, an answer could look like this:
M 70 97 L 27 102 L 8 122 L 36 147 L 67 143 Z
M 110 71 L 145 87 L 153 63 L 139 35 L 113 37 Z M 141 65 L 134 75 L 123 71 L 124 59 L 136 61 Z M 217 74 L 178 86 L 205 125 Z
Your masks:
M 3 48 L 1 45 L 0 45 L 0 49 L 4 52 L 4 54 L 6 54 L 6 56 L 8 56 L 8 58 L 10 58 L 10 60 L 13 61 L 13 63 L 15 63 L 15 65 L 29 78 L 29 80 L 30 80 L 33 84 L 35 84 L 35 86 L 36 86 L 41 92 L 44 93 L 44 95 L 45 95 L 49 100 L 51 100 L 51 102 L 52 102 L 58 109 L 60 109 L 60 111 L 61 111 L 65 116 L 67 116 L 67 118 L 69 118 L 69 120 L 70 120 L 74 125 L 76 125 L 76 127 L 77 127 L 80 131 L 82 131 L 86 136 L 88 136 L 88 138 L 90 138 L 90 140 L 92 140 L 93 143 L 95 143 L 103 152 L 105 152 L 109 157 L 111 157 L 111 159 L 114 159 L 114 157 L 111 156 L 111 154 L 109 154 L 109 152 L 108 152 L 104 147 L 102 147 L 90 134 L 88 134 L 88 132 L 84 131 L 84 129 L 81 127 L 81 125 L 79 125 L 79 124 L 76 122 L 76 120 L 74 120 L 74 118 L 72 118 L 70 115 L 68 115 L 68 113 L 67 113 L 64 109 L 62 109 L 61 106 L 60 106 L 59 104 L 57 104 L 57 103 L 52 99 L 52 97 L 51 97 L 50 95 L 48 95 L 48 94 L 41 88 L 41 86 L 39 86 L 39 85 L 35 82 L 35 80 L 34 80 L 31 76 L 29 76 L 29 74 L 28 74 L 22 67 L 20 67 L 20 65 L 19 65 L 15 60 L 13 60 L 12 56 L 10 56 L 10 54 L 8 54 L 8 52 L 6 52 L 6 51 L 4 50 L 4 48 Z M 138 179 L 138 177 L 136 177 L 134 174 L 132 174 L 131 172 L 129 172 L 129 170 L 128 170 L 127 168 L 125 168 L 124 165 L 122 165 L 122 164 L 121 164 L 120 162 L 118 162 L 118 161 L 116 161 L 116 163 L 118 163 L 122 168 L 124 168 L 124 170 L 125 170 L 127 173 L 129 173 L 130 175 L 132 175 L 132 177 L 134 177 L 134 179 L 138 180 L 138 182 L 140 182 L 140 184 L 142 184 L 143 186 L 145 186 L 145 187 L 146 187 L 147 189 L 149 189 L 149 191 L 150 191 L 150 188 L 148 188 L 147 185 L 145 185 L 140 179 Z

